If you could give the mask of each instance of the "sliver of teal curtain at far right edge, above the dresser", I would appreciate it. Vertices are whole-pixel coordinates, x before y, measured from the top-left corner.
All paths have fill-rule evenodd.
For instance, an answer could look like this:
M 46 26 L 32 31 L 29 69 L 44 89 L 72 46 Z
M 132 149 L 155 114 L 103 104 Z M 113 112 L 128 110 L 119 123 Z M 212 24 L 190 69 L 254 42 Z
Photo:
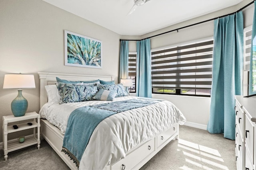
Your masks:
M 254 1 L 255 2 L 255 1 Z M 249 72 L 249 95 L 256 94 L 256 72 L 253 73 L 252 70 L 256 71 L 256 4 L 254 3 L 254 15 L 253 15 L 253 22 L 252 22 L 252 44 L 251 44 L 251 57 L 250 57 L 250 72 Z M 254 42 L 254 43 L 253 43 Z

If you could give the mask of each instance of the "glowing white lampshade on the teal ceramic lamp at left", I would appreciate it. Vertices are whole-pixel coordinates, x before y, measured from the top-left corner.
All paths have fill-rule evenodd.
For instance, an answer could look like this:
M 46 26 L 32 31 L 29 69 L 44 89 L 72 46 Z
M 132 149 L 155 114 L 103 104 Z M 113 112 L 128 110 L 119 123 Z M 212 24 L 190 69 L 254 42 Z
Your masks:
M 6 74 L 4 75 L 3 89 L 34 89 L 35 78 L 30 74 Z

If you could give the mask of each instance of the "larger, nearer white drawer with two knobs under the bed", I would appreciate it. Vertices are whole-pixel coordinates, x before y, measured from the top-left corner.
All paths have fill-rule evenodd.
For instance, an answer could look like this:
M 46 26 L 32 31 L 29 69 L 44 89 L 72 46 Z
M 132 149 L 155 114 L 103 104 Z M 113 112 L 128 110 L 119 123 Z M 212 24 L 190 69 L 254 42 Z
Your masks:
M 111 170 L 130 170 L 138 165 L 144 158 L 155 151 L 155 138 L 149 140 L 145 144 L 139 146 L 126 155 L 124 159 L 119 160 L 111 166 Z M 138 159 L 136 159 L 138 158 Z

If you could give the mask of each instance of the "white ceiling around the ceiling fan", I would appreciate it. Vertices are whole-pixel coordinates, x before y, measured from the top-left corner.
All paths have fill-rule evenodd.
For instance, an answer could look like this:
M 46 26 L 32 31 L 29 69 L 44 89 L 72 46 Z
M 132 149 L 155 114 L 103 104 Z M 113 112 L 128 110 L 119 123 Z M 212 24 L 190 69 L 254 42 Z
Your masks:
M 134 0 L 43 1 L 117 34 L 128 36 L 141 36 L 242 2 L 242 0 L 150 0 L 127 15 Z

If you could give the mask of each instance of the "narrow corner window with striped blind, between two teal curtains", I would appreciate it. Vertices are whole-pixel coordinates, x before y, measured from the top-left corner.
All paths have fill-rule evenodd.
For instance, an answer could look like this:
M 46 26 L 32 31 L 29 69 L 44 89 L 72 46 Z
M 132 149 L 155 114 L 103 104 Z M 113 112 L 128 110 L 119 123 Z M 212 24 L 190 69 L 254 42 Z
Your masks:
M 128 78 L 132 79 L 133 85 L 128 87 L 129 92 L 136 92 L 136 52 L 129 53 L 129 62 L 128 62 Z

